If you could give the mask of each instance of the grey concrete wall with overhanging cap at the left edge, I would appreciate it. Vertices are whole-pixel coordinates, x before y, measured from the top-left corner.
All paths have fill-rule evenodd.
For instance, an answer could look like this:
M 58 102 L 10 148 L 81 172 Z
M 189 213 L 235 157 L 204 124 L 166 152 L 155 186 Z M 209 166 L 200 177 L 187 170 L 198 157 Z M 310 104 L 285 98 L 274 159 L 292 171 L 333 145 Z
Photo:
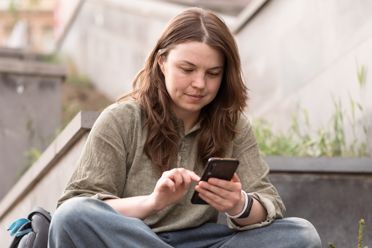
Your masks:
M 60 128 L 65 75 L 61 65 L 0 55 L 0 199 L 25 171 L 24 153 L 44 151 Z

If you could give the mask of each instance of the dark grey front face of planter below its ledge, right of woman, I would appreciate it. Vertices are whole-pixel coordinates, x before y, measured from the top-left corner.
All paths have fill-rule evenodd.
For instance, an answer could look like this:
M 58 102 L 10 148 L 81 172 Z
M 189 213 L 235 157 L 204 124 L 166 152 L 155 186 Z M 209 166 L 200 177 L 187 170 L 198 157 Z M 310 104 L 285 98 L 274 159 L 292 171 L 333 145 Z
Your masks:
M 269 179 L 286 206 L 284 218 L 307 219 L 322 248 L 357 247 L 359 220 L 365 220 L 363 246 L 372 244 L 372 174 L 276 173 Z

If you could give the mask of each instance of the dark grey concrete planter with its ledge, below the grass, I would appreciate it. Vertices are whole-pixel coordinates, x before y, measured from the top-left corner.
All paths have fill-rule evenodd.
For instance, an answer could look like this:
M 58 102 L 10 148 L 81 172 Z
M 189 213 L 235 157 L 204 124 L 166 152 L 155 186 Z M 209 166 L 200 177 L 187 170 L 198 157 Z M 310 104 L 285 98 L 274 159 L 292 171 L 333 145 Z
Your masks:
M 356 247 L 360 219 L 363 246 L 372 245 L 372 158 L 265 157 L 284 217 L 309 220 L 322 247 Z

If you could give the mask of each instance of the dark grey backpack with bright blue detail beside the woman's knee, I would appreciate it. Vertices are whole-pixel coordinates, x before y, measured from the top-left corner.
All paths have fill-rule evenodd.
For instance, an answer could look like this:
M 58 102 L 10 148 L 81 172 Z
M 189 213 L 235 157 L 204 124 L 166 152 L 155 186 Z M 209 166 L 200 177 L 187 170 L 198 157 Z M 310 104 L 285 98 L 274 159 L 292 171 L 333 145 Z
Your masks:
M 28 218 L 17 219 L 7 229 L 14 236 L 8 248 L 47 248 L 50 213 L 34 207 Z

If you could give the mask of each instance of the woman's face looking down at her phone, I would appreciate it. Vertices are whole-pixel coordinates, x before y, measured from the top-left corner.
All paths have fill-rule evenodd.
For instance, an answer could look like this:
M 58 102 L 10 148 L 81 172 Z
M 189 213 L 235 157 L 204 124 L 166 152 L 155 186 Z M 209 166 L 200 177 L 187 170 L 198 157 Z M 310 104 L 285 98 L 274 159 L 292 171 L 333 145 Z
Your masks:
M 201 42 L 187 42 L 172 49 L 166 61 L 159 58 L 165 85 L 177 118 L 199 115 L 212 102 L 221 85 L 225 56 Z

